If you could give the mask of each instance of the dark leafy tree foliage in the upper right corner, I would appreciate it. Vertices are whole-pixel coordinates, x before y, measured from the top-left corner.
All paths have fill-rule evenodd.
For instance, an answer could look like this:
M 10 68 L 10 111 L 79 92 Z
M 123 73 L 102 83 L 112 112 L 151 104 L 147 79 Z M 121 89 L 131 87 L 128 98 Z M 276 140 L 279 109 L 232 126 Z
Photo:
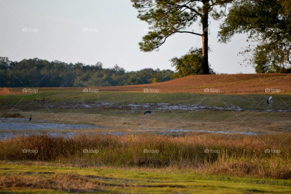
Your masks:
M 259 73 L 291 72 L 291 2 L 288 0 L 237 0 L 220 26 L 220 42 L 236 33 L 248 33 L 253 42 L 240 54 Z

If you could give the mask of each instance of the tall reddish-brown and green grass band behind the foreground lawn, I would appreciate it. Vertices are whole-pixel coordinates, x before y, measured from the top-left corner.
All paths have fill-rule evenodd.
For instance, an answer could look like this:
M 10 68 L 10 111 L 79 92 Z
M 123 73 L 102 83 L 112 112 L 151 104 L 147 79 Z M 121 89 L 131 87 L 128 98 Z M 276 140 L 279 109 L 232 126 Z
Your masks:
M 83 167 L 153 167 L 291 179 L 291 136 L 102 135 L 19 136 L 0 141 L 3 161 L 47 161 Z

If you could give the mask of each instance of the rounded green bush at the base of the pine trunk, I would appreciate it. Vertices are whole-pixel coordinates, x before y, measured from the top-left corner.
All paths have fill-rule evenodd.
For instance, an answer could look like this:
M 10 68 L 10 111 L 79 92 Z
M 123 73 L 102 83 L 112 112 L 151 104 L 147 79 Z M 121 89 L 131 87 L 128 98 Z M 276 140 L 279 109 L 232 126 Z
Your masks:
M 201 48 L 191 48 L 189 52 L 182 55 L 180 58 L 174 57 L 170 60 L 172 67 L 176 68 L 175 78 L 184 77 L 188 75 L 202 75 L 203 72 L 203 56 Z M 210 66 L 210 65 L 209 65 Z M 214 74 L 213 70 L 209 68 L 209 73 Z

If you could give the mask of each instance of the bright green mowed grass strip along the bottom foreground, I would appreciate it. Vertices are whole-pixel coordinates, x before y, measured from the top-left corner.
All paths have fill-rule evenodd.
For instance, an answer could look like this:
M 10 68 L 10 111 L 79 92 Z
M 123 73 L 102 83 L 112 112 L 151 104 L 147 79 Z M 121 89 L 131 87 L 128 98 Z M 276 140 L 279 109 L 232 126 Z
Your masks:
M 291 192 L 289 180 L 206 176 L 191 172 L 172 172 L 169 169 L 73 168 L 2 163 L 0 176 L 0 193 Z M 12 179 L 10 182 L 5 181 L 9 177 L 21 177 L 21 181 L 17 178 L 14 178 L 14 182 Z M 33 181 L 28 182 L 28 180 Z M 53 188 L 56 183 L 58 185 Z

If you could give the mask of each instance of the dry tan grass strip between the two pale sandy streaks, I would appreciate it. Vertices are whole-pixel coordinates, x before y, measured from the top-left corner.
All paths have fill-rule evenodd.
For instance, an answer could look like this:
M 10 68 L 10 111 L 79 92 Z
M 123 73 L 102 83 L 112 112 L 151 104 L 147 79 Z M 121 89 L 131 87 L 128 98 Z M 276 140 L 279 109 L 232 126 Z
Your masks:
M 28 115 L 27 112 L 21 112 L 22 115 Z M 202 114 L 202 113 L 199 113 Z M 87 113 L 55 113 L 47 112 L 32 112 L 34 119 L 44 119 L 49 122 L 59 122 L 58 118 L 63 118 L 63 123 L 74 124 L 93 124 L 99 126 L 107 126 L 112 129 L 104 129 L 101 131 L 118 131 L 118 132 L 145 132 L 144 129 L 154 129 L 159 132 L 160 129 L 191 129 L 191 130 L 211 130 L 211 131 L 232 131 L 232 132 L 258 132 L 258 133 L 274 133 L 274 132 L 288 132 L 290 131 L 291 121 L 289 112 L 274 113 L 276 117 L 272 116 L 270 119 L 269 113 L 265 112 L 236 112 L 233 114 L 229 112 L 231 117 L 222 121 L 213 121 L 212 117 L 217 116 L 215 112 L 203 120 L 193 120 L 190 114 L 187 117 L 182 117 L 183 122 L 172 116 L 105 116 Z M 249 116 L 248 116 L 249 115 Z M 244 120 L 244 124 L 240 119 Z M 150 118 L 150 119 L 149 119 Z M 83 129 L 82 131 L 86 131 Z M 92 131 L 91 129 L 88 132 Z

